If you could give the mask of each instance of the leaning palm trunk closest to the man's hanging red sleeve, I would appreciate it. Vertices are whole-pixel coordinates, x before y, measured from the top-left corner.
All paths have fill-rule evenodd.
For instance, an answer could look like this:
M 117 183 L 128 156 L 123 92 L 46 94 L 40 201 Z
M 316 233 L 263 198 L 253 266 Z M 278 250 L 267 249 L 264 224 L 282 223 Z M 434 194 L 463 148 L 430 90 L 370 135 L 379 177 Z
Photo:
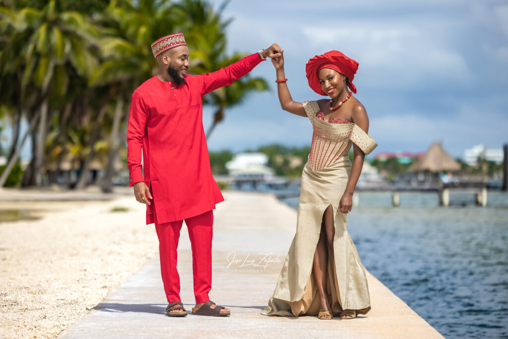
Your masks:
M 118 159 L 118 154 L 120 153 L 122 139 L 119 138 L 119 135 L 123 137 L 123 133 L 119 133 L 120 131 L 120 123 L 122 115 L 126 115 L 126 120 L 124 126 L 128 124 L 129 113 L 124 114 L 123 112 L 123 100 L 118 99 L 115 107 L 115 116 L 113 117 L 113 126 L 111 128 L 111 135 L 109 138 L 109 147 L 108 147 L 108 162 L 106 163 L 106 173 L 104 178 L 102 179 L 102 192 L 104 193 L 112 193 L 113 192 L 113 175 L 115 175 L 115 165 L 116 160 Z M 125 139 L 123 139 L 125 140 Z

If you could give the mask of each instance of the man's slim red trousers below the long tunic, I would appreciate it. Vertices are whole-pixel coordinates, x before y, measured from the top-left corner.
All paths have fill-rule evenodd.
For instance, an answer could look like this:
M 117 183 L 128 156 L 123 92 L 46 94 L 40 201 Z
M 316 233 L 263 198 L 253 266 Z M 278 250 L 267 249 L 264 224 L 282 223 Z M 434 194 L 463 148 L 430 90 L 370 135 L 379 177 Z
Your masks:
M 153 201 L 152 201 L 153 204 Z M 153 208 L 155 230 L 159 239 L 161 273 L 168 302 L 180 300 L 180 276 L 176 270 L 178 238 L 183 220 L 159 224 Z M 207 302 L 212 288 L 212 225 L 213 212 L 185 219 L 192 248 L 194 296 L 196 303 Z

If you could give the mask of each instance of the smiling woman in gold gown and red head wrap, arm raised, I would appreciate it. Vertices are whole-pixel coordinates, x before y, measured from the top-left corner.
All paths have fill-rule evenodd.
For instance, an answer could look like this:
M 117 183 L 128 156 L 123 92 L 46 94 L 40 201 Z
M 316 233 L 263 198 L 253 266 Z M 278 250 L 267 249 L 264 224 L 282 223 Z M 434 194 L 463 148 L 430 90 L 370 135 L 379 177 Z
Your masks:
M 291 98 L 283 53 L 272 63 L 282 109 L 308 117 L 313 134 L 302 173 L 296 235 L 262 314 L 355 318 L 370 310 L 370 298 L 365 269 L 347 232 L 347 213 L 364 157 L 377 146 L 367 134 L 365 107 L 352 96 L 358 63 L 339 51 L 310 59 L 310 87 L 331 100 L 304 103 Z M 353 163 L 348 157 L 352 146 Z

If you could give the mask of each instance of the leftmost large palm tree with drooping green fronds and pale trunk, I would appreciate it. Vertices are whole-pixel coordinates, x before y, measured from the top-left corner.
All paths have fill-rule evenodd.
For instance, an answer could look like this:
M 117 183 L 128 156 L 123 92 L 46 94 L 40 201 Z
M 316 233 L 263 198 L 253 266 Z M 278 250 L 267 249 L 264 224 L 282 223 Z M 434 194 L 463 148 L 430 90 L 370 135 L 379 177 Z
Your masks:
M 3 41 L 2 67 L 5 73 L 18 74 L 22 102 L 35 98 L 22 105 L 19 114 L 25 110 L 30 121 L 40 116 L 38 132 L 30 132 L 35 147 L 25 184 L 42 183 L 48 121 L 57 108 L 54 105 L 61 104 L 57 99 L 66 94 L 70 75 L 88 77 L 98 64 L 93 53 L 97 29 L 84 15 L 62 11 L 63 4 L 63 0 L 50 0 L 42 9 L 0 8 L 0 28 L 10 33 Z M 15 162 L 14 158 L 10 161 Z

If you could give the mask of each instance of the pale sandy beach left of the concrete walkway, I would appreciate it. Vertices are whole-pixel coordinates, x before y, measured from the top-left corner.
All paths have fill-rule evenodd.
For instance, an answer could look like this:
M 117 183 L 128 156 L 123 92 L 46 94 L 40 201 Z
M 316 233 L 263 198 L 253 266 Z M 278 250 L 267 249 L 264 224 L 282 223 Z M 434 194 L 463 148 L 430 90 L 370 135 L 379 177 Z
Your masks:
M 117 191 L 2 191 L 1 210 L 40 219 L 0 222 L 0 337 L 57 336 L 157 254 L 144 205 Z M 44 201 L 66 196 L 112 200 Z

